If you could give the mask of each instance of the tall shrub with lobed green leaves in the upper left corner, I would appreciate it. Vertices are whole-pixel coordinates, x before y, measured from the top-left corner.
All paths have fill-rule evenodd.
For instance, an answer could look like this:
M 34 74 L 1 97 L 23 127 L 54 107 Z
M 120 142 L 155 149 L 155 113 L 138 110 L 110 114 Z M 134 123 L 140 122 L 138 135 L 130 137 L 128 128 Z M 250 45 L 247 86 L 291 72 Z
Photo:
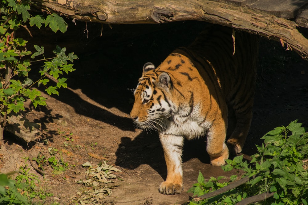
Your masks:
M 39 90 L 33 89 L 35 84 L 45 86 L 49 95 L 59 95 L 57 89 L 67 87 L 67 78 L 60 76 L 75 70 L 73 64 L 68 62 L 73 62 L 77 56 L 74 53 L 66 55 L 66 48 L 57 46 L 53 50 L 55 57 L 47 59 L 43 46 L 35 45 L 36 52 L 32 53 L 26 49 L 27 41 L 16 37 L 21 27 L 28 30 L 26 25 L 38 28 L 49 26 L 52 31 L 60 30 L 62 33 L 67 30 L 66 22 L 57 14 L 49 14 L 46 18 L 43 15 L 31 15 L 31 3 L 27 0 L 1 0 L 0 3 L 0 140 L 7 115 L 25 110 L 26 99 L 30 99 L 35 108 L 37 105 L 46 105 L 46 98 L 42 97 Z M 42 59 L 34 60 L 37 56 Z M 28 77 L 34 61 L 44 61 L 39 71 L 41 77 L 35 81 Z M 49 78 L 53 78 L 56 85 L 50 85 Z

